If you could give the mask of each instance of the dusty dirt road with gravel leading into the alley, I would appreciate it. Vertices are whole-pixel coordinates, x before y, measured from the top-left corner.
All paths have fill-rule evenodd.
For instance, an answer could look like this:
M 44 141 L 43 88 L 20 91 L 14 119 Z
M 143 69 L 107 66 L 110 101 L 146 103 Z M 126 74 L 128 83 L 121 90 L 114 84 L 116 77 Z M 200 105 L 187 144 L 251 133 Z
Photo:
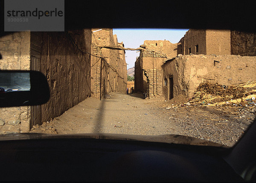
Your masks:
M 233 146 L 256 114 L 256 106 L 180 106 L 186 102 L 182 96 L 170 101 L 143 99 L 138 93 L 109 96 L 101 101 L 90 97 L 31 132 L 178 134 Z

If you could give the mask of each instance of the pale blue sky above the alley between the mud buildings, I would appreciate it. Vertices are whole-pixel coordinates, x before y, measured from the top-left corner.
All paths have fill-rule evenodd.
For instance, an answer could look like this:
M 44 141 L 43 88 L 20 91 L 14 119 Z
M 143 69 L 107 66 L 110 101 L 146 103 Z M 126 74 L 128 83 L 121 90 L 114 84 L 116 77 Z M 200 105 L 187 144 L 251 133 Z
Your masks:
M 117 35 L 118 42 L 123 42 L 125 48 L 139 48 L 145 40 L 168 40 L 177 43 L 189 29 L 119 29 L 113 28 L 113 34 Z M 140 52 L 125 51 L 125 59 L 128 68 L 134 67 L 136 56 Z

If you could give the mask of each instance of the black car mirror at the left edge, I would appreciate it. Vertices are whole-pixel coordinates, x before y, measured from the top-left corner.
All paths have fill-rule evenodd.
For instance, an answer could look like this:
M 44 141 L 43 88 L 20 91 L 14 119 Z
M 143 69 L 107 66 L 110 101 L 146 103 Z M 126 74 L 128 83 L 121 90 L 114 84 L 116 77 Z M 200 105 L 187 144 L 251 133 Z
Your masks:
M 0 107 L 41 105 L 49 98 L 49 85 L 41 72 L 0 70 Z

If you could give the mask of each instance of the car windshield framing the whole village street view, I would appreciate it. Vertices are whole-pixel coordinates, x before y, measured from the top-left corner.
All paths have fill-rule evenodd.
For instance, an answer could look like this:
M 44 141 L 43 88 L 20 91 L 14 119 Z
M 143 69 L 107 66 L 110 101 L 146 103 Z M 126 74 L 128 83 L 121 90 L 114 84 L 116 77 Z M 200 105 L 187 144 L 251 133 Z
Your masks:
M 185 135 L 233 146 L 256 114 L 255 37 L 189 28 L 6 34 L 0 69 L 42 72 L 50 99 L 0 108 L 0 134 Z M 29 75 L 0 82 L 1 93 L 30 89 Z

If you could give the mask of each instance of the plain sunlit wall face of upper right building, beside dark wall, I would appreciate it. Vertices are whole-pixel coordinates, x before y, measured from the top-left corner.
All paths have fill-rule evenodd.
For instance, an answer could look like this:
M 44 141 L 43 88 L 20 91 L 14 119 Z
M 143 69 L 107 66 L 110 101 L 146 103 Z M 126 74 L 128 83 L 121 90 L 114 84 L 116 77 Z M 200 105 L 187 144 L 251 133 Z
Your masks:
M 230 55 L 230 30 L 206 30 L 206 54 Z M 205 54 L 205 53 L 201 53 Z

